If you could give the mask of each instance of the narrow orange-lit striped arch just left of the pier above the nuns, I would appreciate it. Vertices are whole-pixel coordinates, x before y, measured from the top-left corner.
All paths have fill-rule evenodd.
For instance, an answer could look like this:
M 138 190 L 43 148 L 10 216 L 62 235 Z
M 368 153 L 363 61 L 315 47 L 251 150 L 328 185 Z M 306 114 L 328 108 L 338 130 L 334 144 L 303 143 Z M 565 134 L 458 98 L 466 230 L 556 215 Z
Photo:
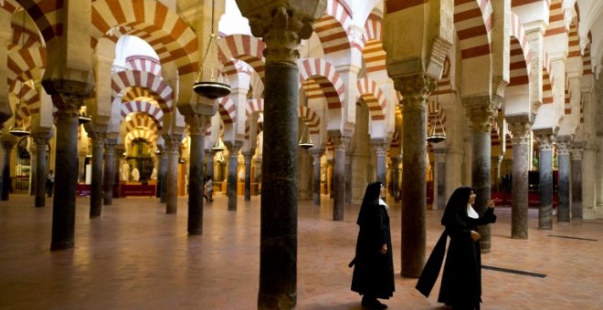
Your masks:
M 386 51 L 383 49 L 383 18 L 371 14 L 365 24 L 365 48 L 362 56 L 365 58 L 366 73 L 386 70 Z

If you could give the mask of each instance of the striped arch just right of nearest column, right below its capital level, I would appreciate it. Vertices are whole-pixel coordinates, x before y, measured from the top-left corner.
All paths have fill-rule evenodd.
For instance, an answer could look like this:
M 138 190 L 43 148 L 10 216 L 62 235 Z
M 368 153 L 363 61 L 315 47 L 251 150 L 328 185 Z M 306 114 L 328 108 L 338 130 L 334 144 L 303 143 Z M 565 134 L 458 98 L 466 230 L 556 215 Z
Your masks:
M 323 90 L 329 109 L 341 109 L 344 101 L 344 81 L 335 67 L 320 58 L 305 58 L 298 61 L 300 88 L 306 79 L 312 78 Z

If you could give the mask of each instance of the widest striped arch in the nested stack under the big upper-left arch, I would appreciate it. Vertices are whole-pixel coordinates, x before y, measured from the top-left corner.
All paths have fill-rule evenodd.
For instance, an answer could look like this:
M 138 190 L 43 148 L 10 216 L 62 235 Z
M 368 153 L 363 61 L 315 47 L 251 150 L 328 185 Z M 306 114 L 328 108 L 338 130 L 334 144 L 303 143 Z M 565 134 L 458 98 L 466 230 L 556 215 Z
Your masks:
M 114 73 L 111 77 L 112 97 L 117 97 L 125 88 L 148 88 L 157 94 L 159 106 L 164 113 L 174 109 L 174 90 L 164 80 L 150 72 L 126 70 Z

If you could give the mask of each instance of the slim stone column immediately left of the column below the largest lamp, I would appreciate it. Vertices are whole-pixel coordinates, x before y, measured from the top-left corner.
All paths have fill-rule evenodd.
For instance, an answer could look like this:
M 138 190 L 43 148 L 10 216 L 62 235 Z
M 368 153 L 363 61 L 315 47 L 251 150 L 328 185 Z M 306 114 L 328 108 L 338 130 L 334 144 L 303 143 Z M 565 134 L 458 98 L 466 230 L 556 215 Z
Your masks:
M 167 177 L 165 191 L 165 213 L 178 212 L 178 157 L 180 155 L 181 137 L 173 135 L 164 137 L 167 146 Z

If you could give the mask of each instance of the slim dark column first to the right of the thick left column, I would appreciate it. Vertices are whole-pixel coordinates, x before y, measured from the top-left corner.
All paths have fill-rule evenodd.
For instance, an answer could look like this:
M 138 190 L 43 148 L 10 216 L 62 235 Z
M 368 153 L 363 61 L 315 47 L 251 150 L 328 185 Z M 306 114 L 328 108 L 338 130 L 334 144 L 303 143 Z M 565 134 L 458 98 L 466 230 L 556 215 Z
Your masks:
M 99 217 L 102 212 L 102 151 L 105 135 L 89 132 L 92 138 L 92 184 L 90 185 L 90 218 Z

